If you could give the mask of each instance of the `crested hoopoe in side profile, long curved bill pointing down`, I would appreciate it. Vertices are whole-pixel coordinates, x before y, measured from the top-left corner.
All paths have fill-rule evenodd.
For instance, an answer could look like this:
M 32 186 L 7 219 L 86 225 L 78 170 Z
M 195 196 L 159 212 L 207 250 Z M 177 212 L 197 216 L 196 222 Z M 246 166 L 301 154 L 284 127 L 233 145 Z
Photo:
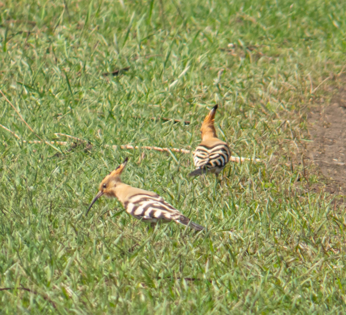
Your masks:
M 157 221 L 175 221 L 191 228 L 200 231 L 204 227 L 192 222 L 182 213 L 176 210 L 168 202 L 166 202 L 157 193 L 143 190 L 140 188 L 131 187 L 130 185 L 121 182 L 120 174 L 125 168 L 127 158 L 124 163 L 120 164 L 114 171 L 107 175 L 101 182 L 99 192 L 91 201 L 91 204 L 86 211 L 88 214 L 92 205 L 102 195 L 107 197 L 116 197 L 123 204 L 127 213 L 137 219 L 142 219 L 151 224 Z M 85 215 L 86 215 L 85 214 Z

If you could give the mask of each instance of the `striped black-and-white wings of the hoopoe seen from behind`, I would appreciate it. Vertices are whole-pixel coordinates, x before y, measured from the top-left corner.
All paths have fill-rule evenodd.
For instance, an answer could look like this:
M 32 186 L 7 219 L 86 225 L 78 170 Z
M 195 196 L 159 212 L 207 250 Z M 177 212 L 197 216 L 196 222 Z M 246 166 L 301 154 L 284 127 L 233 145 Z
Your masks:
M 230 155 L 229 147 L 225 143 L 216 144 L 211 147 L 199 145 L 193 155 L 193 163 L 200 169 L 222 169 L 229 161 Z

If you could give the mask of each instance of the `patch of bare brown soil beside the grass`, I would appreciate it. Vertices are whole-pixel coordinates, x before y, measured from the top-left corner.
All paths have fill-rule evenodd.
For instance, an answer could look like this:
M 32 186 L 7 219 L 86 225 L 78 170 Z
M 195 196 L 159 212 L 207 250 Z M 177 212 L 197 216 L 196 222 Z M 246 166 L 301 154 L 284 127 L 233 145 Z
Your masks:
M 327 192 L 346 195 L 346 88 L 329 104 L 310 108 L 308 123 L 313 142 L 307 145 L 307 157 L 324 175 Z

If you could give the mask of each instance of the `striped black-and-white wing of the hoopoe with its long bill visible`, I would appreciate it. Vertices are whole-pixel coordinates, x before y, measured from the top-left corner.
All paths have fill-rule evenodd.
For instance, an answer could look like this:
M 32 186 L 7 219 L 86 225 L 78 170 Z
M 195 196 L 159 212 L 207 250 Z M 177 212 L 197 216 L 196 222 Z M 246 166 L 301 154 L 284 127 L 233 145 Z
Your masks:
M 159 195 L 150 196 L 146 194 L 137 194 L 131 196 L 124 203 L 124 206 L 126 212 L 135 218 L 148 220 L 150 222 L 173 220 L 178 223 L 183 223 L 181 221 L 187 219 Z

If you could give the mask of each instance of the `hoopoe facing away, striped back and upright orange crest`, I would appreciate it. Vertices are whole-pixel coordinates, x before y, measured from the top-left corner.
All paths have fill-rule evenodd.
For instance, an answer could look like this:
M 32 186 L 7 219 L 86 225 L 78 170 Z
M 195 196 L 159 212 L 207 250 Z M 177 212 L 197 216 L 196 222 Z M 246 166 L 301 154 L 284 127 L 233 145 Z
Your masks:
M 201 175 L 207 171 L 215 173 L 221 172 L 229 161 L 231 151 L 226 142 L 218 139 L 214 127 L 214 117 L 218 105 L 215 105 L 201 127 L 202 142 L 197 146 L 193 154 L 193 163 L 197 167 L 190 176 Z

